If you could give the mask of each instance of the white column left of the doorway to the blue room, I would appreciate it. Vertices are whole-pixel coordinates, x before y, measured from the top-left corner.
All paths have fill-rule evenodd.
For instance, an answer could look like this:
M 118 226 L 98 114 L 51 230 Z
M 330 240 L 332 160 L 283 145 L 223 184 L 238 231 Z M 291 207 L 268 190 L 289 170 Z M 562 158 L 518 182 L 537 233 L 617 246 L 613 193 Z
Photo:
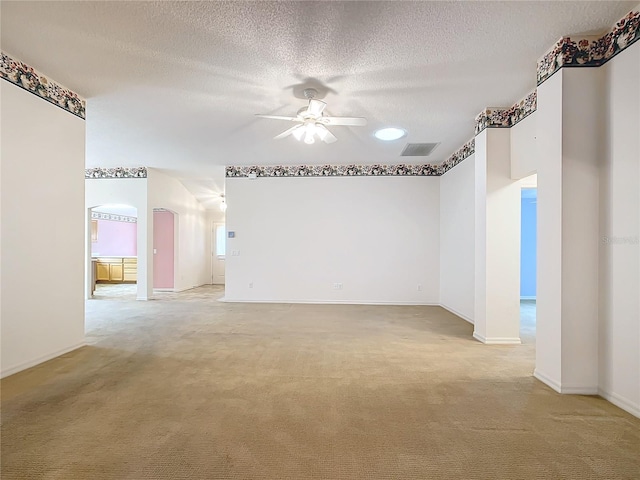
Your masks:
M 473 336 L 520 343 L 520 184 L 511 179 L 510 131 L 476 136 L 475 312 Z

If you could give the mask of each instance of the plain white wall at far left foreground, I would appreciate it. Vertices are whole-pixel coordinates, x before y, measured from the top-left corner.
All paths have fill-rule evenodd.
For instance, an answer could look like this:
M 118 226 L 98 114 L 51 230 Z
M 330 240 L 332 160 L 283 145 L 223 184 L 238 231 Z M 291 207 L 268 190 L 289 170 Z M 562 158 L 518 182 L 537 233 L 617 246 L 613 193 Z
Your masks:
M 1 375 L 84 344 L 85 122 L 0 81 Z

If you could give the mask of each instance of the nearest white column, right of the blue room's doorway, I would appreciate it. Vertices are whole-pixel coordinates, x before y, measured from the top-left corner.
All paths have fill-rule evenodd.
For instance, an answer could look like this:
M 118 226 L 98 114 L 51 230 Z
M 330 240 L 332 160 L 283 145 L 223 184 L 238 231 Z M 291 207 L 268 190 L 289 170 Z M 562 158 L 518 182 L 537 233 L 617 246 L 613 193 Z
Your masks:
M 538 280 L 534 375 L 598 391 L 600 68 L 564 68 L 538 88 Z

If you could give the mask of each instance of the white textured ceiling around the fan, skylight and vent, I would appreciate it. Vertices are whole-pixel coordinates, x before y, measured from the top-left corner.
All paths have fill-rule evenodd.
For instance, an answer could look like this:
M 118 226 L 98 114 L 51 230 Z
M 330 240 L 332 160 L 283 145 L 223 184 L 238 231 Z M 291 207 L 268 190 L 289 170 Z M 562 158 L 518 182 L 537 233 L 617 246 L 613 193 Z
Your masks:
M 226 164 L 439 163 L 475 115 L 535 88 L 561 36 L 599 34 L 637 2 L 10 2 L 2 49 L 87 99 L 87 167 L 149 166 L 207 206 Z M 318 87 L 337 143 L 272 137 Z M 298 98 L 296 98 L 298 97 Z M 382 143 L 372 133 L 401 126 Z M 441 142 L 400 157 L 407 142 Z

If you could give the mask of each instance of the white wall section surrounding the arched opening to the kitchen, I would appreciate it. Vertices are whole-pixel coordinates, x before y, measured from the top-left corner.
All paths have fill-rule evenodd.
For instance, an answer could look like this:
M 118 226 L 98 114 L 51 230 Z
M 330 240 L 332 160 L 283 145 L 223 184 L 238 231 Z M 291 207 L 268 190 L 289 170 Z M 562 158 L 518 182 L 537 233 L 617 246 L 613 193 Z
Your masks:
M 89 228 L 88 209 L 108 204 L 121 204 L 135 207 L 138 210 L 138 300 L 148 300 L 153 293 L 153 208 L 148 206 L 146 178 L 91 178 L 85 180 L 85 209 L 87 209 L 87 226 Z M 88 243 L 86 252 L 86 278 L 91 278 L 91 244 L 88 234 L 85 234 Z M 146 261 L 145 261 L 146 259 Z M 87 298 L 91 296 L 90 286 L 87 282 Z

